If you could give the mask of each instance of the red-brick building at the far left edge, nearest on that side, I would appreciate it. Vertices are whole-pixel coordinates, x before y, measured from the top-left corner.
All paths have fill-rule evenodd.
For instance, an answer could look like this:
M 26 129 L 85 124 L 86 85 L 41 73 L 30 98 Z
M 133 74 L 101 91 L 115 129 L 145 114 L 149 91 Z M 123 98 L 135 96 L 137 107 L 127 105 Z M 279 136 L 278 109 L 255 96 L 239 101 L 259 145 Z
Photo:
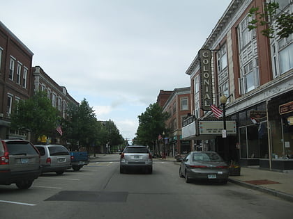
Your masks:
M 0 138 L 25 137 L 10 133 L 10 114 L 20 99 L 31 96 L 33 52 L 0 22 Z

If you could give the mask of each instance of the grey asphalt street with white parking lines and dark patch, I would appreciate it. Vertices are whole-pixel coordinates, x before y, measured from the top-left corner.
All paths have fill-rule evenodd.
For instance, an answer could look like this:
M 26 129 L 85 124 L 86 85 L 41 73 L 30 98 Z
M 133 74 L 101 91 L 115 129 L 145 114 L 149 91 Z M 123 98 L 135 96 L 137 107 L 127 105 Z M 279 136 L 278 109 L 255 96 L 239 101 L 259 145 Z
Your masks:
M 179 177 L 179 165 L 154 161 L 153 174 L 119 173 L 107 154 L 57 176 L 41 175 L 29 190 L 0 186 L 1 218 L 292 218 L 293 203 L 237 186 Z

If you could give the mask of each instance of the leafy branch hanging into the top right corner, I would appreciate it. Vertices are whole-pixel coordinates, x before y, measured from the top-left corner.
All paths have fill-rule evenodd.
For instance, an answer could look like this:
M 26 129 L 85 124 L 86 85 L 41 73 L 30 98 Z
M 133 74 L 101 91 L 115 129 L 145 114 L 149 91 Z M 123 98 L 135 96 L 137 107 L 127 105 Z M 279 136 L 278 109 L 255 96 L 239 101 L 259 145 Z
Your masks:
M 248 16 L 253 17 L 248 25 L 250 31 L 256 29 L 257 26 L 264 26 L 262 35 L 269 38 L 273 38 L 275 32 L 280 38 L 287 38 L 293 33 L 293 13 L 289 14 L 280 10 L 279 3 L 267 3 L 263 13 L 260 13 L 259 10 L 259 7 L 254 7 L 248 13 Z M 276 21 L 276 29 L 273 26 L 273 21 Z

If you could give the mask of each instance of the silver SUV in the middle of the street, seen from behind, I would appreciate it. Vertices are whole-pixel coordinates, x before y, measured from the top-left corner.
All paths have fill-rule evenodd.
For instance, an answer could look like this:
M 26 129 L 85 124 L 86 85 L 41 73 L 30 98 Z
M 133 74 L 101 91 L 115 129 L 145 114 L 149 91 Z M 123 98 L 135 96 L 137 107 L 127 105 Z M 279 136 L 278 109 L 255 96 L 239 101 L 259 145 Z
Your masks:
M 127 146 L 120 155 L 120 173 L 130 168 L 143 168 L 149 174 L 153 172 L 153 159 L 146 146 Z

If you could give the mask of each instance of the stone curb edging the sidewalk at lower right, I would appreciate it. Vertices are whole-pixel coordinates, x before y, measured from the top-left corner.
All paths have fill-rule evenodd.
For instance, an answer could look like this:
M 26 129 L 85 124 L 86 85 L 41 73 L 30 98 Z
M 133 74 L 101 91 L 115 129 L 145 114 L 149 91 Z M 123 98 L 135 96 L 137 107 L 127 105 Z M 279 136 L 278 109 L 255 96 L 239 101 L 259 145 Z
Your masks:
M 248 183 L 246 183 L 244 181 L 240 181 L 240 180 L 236 180 L 236 179 L 228 178 L 228 181 L 232 182 L 233 184 L 239 185 L 239 186 L 243 186 L 243 187 L 246 187 L 246 188 L 251 188 L 251 189 L 254 189 L 254 190 L 259 190 L 262 193 L 266 193 L 266 194 L 269 194 L 269 195 L 280 197 L 281 199 L 286 200 L 288 202 L 293 202 L 293 195 L 290 195 L 290 194 L 287 194 L 287 193 L 282 193 L 282 192 L 280 192 L 278 190 L 273 190 L 273 189 L 270 189 L 270 188 L 264 188 L 262 186 L 248 184 Z

